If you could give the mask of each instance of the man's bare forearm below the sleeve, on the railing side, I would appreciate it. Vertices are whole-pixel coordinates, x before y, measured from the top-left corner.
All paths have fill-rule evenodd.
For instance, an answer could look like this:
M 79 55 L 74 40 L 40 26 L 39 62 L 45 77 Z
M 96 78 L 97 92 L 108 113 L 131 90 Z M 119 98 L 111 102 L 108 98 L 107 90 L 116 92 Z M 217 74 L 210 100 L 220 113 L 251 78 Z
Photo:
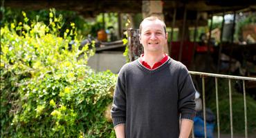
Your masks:
M 193 121 L 189 119 L 181 119 L 181 132 L 179 138 L 188 138 L 190 136 L 192 126 Z

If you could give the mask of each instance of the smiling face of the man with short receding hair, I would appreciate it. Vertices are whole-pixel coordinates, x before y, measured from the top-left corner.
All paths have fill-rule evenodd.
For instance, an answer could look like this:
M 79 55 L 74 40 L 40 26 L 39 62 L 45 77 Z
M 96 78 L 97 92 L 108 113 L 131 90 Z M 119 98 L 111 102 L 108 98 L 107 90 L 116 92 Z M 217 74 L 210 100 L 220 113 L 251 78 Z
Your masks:
M 140 34 L 140 43 L 145 52 L 163 52 L 163 46 L 167 43 L 167 33 L 161 21 L 144 21 Z

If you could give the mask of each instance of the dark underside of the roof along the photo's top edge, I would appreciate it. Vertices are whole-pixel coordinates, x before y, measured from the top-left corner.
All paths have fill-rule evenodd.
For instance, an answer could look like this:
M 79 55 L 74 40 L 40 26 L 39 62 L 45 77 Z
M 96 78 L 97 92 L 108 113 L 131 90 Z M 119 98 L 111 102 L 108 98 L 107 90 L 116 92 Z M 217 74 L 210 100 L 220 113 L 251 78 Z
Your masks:
M 166 14 L 177 8 L 187 8 L 190 11 L 209 12 L 218 14 L 223 11 L 233 10 L 256 10 L 256 1 L 223 1 L 223 0 L 162 0 L 163 13 Z M 1 5 L 10 6 L 12 8 L 23 8 L 39 10 L 42 8 L 56 8 L 58 10 L 77 11 L 84 17 L 94 17 L 101 12 L 121 12 L 121 13 L 139 13 L 142 10 L 142 1 L 126 0 L 1 0 Z M 179 13 L 179 12 L 178 12 Z

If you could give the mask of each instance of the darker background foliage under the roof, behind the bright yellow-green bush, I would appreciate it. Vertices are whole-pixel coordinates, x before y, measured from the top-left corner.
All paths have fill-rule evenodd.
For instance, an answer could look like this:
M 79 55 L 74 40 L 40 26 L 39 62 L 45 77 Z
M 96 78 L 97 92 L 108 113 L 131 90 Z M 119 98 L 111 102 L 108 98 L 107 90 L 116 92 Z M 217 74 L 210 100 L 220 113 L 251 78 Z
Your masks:
M 3 18 L 1 19 L 1 27 L 5 26 L 5 24 L 9 24 L 12 22 L 23 22 L 24 18 L 22 16 L 22 10 L 17 8 L 4 8 L 1 7 L 1 12 L 3 14 Z M 28 19 L 42 21 L 44 24 L 49 23 L 51 11 L 49 10 L 26 10 L 26 16 Z M 86 21 L 86 19 L 82 18 L 77 12 L 68 11 L 68 10 L 56 10 L 52 12 L 58 16 L 62 16 L 62 28 L 68 28 L 70 23 L 73 22 L 77 28 L 77 34 L 81 34 L 83 37 L 86 37 L 88 34 L 92 34 L 93 37 L 97 37 L 97 31 L 102 29 L 102 22 L 90 22 Z M 54 19 L 53 19 L 54 20 Z M 60 36 L 63 37 L 65 30 L 59 30 Z

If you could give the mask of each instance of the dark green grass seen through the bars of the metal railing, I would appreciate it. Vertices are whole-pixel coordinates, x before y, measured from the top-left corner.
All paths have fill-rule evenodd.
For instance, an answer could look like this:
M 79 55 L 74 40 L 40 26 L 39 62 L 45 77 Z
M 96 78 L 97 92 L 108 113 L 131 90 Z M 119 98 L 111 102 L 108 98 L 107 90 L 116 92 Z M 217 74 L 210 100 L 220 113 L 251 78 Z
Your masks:
M 212 91 L 206 104 L 213 112 L 217 112 L 215 90 Z M 248 132 L 256 132 L 256 102 L 252 97 L 246 96 Z M 232 81 L 232 120 L 233 131 L 237 134 L 244 133 L 244 96 L 235 89 Z M 217 122 L 217 119 L 216 119 Z M 228 79 L 219 79 L 219 122 L 221 132 L 230 133 L 230 104 Z M 216 123 L 217 125 L 217 123 Z M 215 127 L 217 130 L 217 127 Z

